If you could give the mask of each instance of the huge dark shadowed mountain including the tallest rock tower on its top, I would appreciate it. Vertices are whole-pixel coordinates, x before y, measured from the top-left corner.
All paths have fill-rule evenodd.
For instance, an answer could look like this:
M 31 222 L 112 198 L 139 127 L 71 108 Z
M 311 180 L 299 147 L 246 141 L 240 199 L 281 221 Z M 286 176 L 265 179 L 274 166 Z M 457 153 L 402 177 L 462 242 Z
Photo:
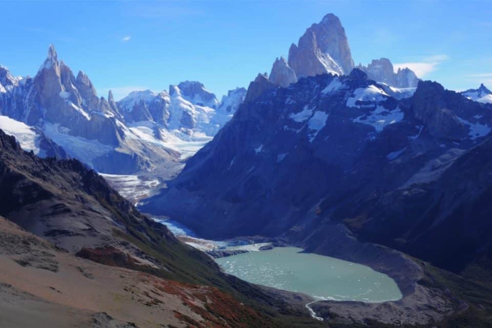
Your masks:
M 308 29 L 291 50 L 304 49 L 311 59 L 301 62 L 316 69 L 292 64 L 292 51 L 288 62 L 277 59 L 229 124 L 141 209 L 205 237 L 283 236 L 322 254 L 332 247 L 323 236 L 344 223 L 362 240 L 452 270 L 489 256 L 482 165 L 492 105 L 469 99 L 487 91 L 448 91 L 410 70 L 394 73 L 387 59 L 353 68 L 344 35 L 333 15 Z M 324 65 L 328 45 L 337 66 Z M 389 92 L 414 85 L 409 98 Z

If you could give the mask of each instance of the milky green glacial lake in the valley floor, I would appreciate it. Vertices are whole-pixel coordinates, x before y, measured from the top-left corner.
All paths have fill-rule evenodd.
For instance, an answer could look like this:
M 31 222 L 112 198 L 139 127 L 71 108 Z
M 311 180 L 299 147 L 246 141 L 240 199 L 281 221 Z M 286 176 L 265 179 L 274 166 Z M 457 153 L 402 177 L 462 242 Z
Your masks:
M 300 292 L 317 299 L 381 302 L 402 297 L 396 282 L 385 274 L 356 263 L 296 247 L 217 258 L 229 274 L 258 285 Z

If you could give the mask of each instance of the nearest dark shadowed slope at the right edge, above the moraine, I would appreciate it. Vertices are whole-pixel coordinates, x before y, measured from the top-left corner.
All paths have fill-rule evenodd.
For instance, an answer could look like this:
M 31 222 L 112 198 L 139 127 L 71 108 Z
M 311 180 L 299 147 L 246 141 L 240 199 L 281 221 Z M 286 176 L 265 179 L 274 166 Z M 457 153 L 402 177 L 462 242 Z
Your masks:
M 339 213 L 365 239 L 455 272 L 492 254 L 492 138 L 449 151 L 401 188 L 378 192 Z

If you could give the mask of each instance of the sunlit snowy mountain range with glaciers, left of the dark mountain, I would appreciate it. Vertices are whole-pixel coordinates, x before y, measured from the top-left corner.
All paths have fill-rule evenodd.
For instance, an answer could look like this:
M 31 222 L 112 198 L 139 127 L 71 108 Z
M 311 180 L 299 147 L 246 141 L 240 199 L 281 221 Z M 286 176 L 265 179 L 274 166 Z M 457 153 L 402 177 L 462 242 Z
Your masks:
M 20 136 L 19 130 L 32 139 L 26 149 L 56 154 L 39 148 L 39 140 L 50 139 L 68 156 L 104 173 L 175 173 L 230 119 L 240 98 L 237 92 L 225 96 L 229 112 L 221 115 L 213 93 L 186 81 L 169 92 L 138 91 L 115 102 L 111 91 L 107 99 L 98 97 L 84 72 L 75 77 L 53 45 L 34 78 L 13 77 L 0 67 L 0 114 L 4 123 L 7 117 L 17 122 L 6 123 L 15 127 L 12 134 Z

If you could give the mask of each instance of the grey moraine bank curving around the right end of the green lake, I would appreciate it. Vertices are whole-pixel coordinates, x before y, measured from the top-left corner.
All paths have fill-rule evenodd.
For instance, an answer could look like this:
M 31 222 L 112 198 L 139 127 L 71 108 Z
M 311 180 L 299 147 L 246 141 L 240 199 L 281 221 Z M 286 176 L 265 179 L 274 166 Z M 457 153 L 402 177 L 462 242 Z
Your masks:
M 160 221 L 162 222 L 162 221 Z M 166 224 L 166 222 L 162 222 Z M 195 236 L 196 237 L 196 236 Z M 342 224 L 334 224 L 325 236 L 329 243 L 312 248 L 296 235 L 282 235 L 276 238 L 250 236 L 237 237 L 235 243 L 272 242 L 278 247 L 301 247 L 308 253 L 330 256 L 353 263 L 362 264 L 391 277 L 400 289 L 403 297 L 398 301 L 366 303 L 357 301 L 319 300 L 310 304 L 310 308 L 324 321 L 342 323 L 363 323 L 372 319 L 388 324 L 427 324 L 442 320 L 455 313 L 456 305 L 444 290 L 433 289 L 419 283 L 425 277 L 423 262 L 416 262 L 408 255 L 381 245 L 362 243 Z M 178 236 L 179 238 L 179 236 Z M 198 238 L 199 239 L 199 238 Z M 299 241 L 300 240 L 300 241 Z M 311 315 L 306 303 L 316 299 L 297 292 L 282 291 L 270 287 L 255 285 L 266 294 L 281 298 L 306 315 Z

